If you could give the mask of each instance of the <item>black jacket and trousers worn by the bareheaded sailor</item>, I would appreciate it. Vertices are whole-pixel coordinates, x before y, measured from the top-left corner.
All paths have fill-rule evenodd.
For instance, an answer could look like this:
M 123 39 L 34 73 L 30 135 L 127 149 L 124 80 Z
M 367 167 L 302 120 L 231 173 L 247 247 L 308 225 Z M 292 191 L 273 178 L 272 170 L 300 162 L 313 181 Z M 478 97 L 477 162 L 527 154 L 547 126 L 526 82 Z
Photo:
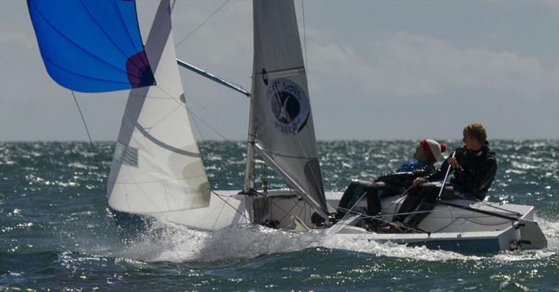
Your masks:
M 491 183 L 495 180 L 497 173 L 497 157 L 495 152 L 489 148 L 489 143 L 476 152 L 466 150 L 465 147 L 460 147 L 455 150 L 455 158 L 458 161 L 459 167 L 453 170 L 453 177 L 450 184 L 444 187 L 441 199 L 468 199 L 468 200 L 484 200 Z M 417 214 L 414 214 L 409 219 L 407 225 L 416 227 L 425 217 L 428 216 L 429 211 L 433 210 L 437 201 L 437 196 L 442 187 L 441 183 L 433 183 L 434 181 L 441 181 L 449 168 L 448 160 L 445 160 L 441 167 L 426 177 L 430 182 L 421 184 L 409 192 L 409 195 L 402 203 L 398 213 L 408 213 L 417 209 Z M 402 214 L 394 217 L 394 221 L 403 222 L 407 215 Z

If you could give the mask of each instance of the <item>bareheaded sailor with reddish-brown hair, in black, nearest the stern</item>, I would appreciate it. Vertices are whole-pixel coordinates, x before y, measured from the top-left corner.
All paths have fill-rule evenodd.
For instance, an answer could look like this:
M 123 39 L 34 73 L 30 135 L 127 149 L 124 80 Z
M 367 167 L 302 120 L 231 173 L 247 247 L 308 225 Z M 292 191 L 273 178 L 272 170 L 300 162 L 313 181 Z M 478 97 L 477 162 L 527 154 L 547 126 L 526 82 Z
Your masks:
M 393 221 L 398 225 L 393 224 L 386 230 L 405 232 L 417 228 L 435 207 L 442 187 L 440 181 L 444 179 L 449 166 L 453 170 L 453 177 L 444 187 L 441 199 L 484 200 L 497 173 L 497 158 L 495 152 L 489 148 L 486 138 L 486 129 L 482 124 L 466 126 L 463 130 L 463 147 L 456 149 L 454 158 L 449 157 L 444 161 L 433 175 L 414 180 L 416 187 L 409 192 L 398 210 L 398 213 L 413 212 L 419 205 L 417 213 L 407 221 L 404 228 L 398 226 L 401 226 L 407 215 L 395 216 Z

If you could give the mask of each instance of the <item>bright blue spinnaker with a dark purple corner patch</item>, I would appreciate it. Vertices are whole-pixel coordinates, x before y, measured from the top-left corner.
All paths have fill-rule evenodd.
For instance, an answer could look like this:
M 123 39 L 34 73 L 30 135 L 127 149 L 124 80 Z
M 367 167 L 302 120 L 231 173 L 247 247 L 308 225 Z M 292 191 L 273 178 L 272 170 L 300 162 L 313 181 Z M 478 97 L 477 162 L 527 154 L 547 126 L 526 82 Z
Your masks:
M 110 92 L 154 85 L 131 0 L 27 0 L 45 67 L 59 85 Z

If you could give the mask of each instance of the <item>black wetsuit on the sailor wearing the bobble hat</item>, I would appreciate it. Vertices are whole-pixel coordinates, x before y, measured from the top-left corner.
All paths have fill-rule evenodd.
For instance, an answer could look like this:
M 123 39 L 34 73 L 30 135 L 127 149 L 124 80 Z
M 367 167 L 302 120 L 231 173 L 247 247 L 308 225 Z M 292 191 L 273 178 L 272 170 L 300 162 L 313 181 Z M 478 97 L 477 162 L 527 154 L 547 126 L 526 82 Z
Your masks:
M 416 177 L 427 177 L 435 173 L 435 167 L 427 164 L 409 172 L 388 173 L 382 175 L 375 182 L 351 182 L 338 204 L 337 217 L 343 217 L 347 209 L 353 207 L 367 192 L 367 214 L 375 216 L 380 212 L 380 198 L 401 194 L 410 187 Z

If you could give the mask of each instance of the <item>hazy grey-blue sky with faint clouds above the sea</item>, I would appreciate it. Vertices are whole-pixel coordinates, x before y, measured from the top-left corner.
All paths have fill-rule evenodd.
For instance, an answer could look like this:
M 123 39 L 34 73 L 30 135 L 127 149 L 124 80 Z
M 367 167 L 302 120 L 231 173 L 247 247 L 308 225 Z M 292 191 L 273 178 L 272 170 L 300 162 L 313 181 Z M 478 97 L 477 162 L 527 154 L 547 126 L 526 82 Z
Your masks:
M 145 39 L 158 2 L 137 2 Z M 224 3 L 177 1 L 177 57 L 250 89 L 252 2 L 231 0 L 196 29 Z M 460 139 L 474 122 L 490 140 L 559 139 L 559 0 L 295 6 L 317 140 Z M 247 97 L 181 78 L 198 139 L 247 138 Z M 127 96 L 76 93 L 93 140 L 116 140 Z M 17 140 L 87 133 L 45 71 L 25 1 L 0 0 L 0 141 Z

